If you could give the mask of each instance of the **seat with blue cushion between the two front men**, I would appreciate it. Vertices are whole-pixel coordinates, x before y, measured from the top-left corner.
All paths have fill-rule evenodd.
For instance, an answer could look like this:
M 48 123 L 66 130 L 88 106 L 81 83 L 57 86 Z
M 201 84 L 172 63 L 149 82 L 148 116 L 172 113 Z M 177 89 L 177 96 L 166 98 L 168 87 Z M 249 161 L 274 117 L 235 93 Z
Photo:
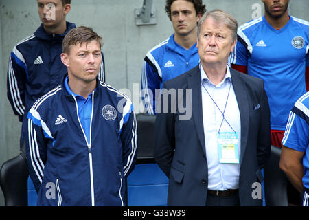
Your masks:
M 155 115 L 137 115 L 137 162 L 127 178 L 128 206 L 167 206 L 168 177 L 153 158 Z

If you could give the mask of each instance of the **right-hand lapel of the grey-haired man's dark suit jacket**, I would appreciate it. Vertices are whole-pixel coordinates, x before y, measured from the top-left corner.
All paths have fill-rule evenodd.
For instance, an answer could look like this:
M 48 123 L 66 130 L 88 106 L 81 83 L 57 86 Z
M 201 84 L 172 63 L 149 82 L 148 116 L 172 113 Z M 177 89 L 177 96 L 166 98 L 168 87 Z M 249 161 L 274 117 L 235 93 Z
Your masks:
M 244 87 L 244 82 L 240 79 L 238 72 L 233 69 L 231 70 L 231 79 L 233 89 L 235 91 L 236 100 L 238 103 L 238 109 L 240 111 L 240 126 L 241 126 L 241 146 L 240 146 L 240 164 L 244 157 L 244 150 L 247 146 L 248 131 L 249 131 L 249 104 L 247 90 Z

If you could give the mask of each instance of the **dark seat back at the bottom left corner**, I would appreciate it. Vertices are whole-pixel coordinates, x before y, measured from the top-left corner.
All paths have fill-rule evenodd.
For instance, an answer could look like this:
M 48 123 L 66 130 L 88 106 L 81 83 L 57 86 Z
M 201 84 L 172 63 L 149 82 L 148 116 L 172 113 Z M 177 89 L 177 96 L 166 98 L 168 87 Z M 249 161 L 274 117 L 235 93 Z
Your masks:
M 22 153 L 3 163 L 0 185 L 5 206 L 27 206 L 27 178 L 27 159 Z

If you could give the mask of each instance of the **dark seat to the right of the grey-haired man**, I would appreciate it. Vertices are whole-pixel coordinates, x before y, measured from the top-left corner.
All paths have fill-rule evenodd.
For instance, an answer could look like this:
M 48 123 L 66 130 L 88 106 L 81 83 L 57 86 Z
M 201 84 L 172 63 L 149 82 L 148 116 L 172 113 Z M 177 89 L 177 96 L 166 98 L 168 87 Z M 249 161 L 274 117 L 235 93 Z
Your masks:
M 271 146 L 271 157 L 264 167 L 266 206 L 288 206 L 288 179 L 279 168 L 281 148 Z

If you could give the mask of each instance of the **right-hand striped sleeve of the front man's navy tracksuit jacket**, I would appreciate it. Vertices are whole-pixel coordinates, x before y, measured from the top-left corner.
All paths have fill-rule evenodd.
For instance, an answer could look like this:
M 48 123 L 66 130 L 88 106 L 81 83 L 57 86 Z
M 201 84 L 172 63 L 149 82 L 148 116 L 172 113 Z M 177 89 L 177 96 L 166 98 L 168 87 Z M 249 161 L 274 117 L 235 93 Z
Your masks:
M 124 175 L 127 177 L 133 170 L 137 157 L 137 122 L 130 100 L 127 100 L 122 115 L 119 137 L 122 141 Z

